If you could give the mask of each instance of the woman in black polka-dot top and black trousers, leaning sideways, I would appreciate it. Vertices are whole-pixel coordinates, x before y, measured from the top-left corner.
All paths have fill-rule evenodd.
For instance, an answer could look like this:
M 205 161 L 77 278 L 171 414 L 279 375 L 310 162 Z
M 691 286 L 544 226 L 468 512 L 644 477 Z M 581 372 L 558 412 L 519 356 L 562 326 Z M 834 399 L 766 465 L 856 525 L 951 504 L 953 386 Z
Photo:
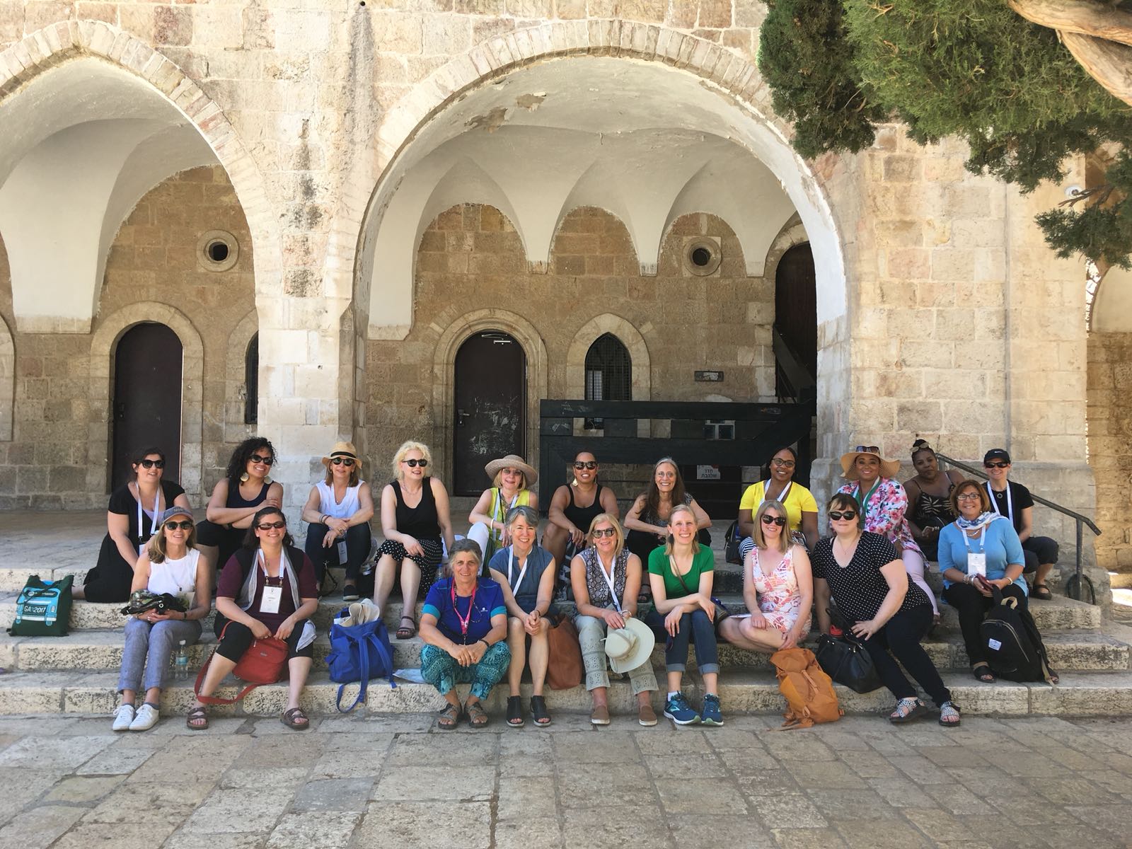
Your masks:
M 940 724 L 959 724 L 959 706 L 951 701 L 920 640 L 932 627 L 927 593 L 908 580 L 904 563 L 886 537 L 861 530 L 857 499 L 838 492 L 827 507 L 834 537 L 818 540 L 814 566 L 817 623 L 830 633 L 830 595 L 850 629 L 864 641 L 884 686 L 897 697 L 892 722 L 908 722 L 927 713 L 916 688 L 897 666 L 899 660 L 940 706 Z

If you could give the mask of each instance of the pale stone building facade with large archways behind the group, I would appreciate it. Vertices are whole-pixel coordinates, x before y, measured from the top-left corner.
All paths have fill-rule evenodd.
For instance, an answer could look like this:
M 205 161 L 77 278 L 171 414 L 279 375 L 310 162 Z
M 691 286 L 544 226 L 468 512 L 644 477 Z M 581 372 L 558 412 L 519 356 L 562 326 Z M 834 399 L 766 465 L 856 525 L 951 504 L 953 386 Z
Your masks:
M 252 429 L 291 506 L 338 438 L 378 479 L 410 437 L 449 474 L 453 362 L 483 331 L 523 348 L 529 409 L 584 391 L 606 333 L 634 398 L 772 400 L 775 268 L 808 242 L 815 488 L 857 443 L 1005 445 L 1126 565 L 1129 453 L 1092 424 L 1127 427 L 1123 349 L 1032 223 L 1064 187 L 1022 197 L 899 127 L 800 160 L 755 67 L 758 0 L 329 6 L 0 0 L 0 505 L 104 503 L 114 351 L 146 321 L 182 344 L 198 504 Z M 214 232 L 231 267 L 201 259 Z M 706 276 L 684 261 L 701 237 Z

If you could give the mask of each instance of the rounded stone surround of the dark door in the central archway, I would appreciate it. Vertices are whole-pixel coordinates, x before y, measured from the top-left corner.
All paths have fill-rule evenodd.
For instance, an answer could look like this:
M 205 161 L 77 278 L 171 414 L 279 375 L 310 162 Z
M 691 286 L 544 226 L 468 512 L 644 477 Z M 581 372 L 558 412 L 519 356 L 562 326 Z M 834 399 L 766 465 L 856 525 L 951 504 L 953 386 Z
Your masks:
M 432 358 L 432 454 L 443 474 L 452 477 L 453 403 L 456 352 L 464 341 L 483 331 L 503 331 L 515 337 L 526 354 L 526 453 L 538 451 L 539 400 L 547 396 L 547 346 L 530 321 L 505 309 L 478 309 L 461 314 L 449 307 L 440 320 L 430 325 L 430 342 L 435 340 Z M 444 329 L 439 328 L 444 326 Z M 435 328 L 435 329 L 434 329 Z M 526 457 L 531 460 L 530 456 Z M 537 464 L 535 464 L 537 465 Z M 449 480 L 451 484 L 451 480 Z

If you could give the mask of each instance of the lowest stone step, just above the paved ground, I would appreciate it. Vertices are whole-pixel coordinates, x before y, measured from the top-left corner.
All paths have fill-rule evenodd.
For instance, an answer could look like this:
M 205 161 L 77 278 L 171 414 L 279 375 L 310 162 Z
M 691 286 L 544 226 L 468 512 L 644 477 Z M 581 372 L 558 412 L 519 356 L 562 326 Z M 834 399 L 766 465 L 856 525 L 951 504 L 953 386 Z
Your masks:
M 1117 717 L 1132 715 L 1132 672 L 1067 672 L 1061 684 L 1012 684 L 998 681 L 979 684 L 969 675 L 945 674 L 944 683 L 951 688 L 952 697 L 961 705 L 964 717 Z M 8 672 L 0 676 L 0 715 L 26 714 L 103 714 L 108 715 L 118 704 L 114 692 L 117 675 L 113 672 Z M 224 685 L 217 695 L 231 697 L 238 692 L 238 683 Z M 886 713 L 892 709 L 893 698 L 885 689 L 858 695 L 837 685 L 838 698 L 847 714 Z M 338 685 L 326 674 L 316 671 L 310 676 L 302 695 L 302 707 L 310 715 L 334 715 Z M 462 685 L 461 694 L 466 692 Z M 703 685 L 695 675 L 685 677 L 685 693 L 693 704 L 698 705 Z M 744 670 L 721 672 L 719 677 L 720 698 L 724 718 L 728 714 L 780 714 L 786 702 L 779 694 L 778 683 L 767 671 Z M 344 702 L 349 704 L 357 695 L 358 686 L 348 685 Z M 530 696 L 530 685 L 523 686 L 523 695 Z M 487 700 L 492 721 L 501 721 L 507 687 L 497 686 Z M 162 692 L 162 713 L 168 721 L 180 722 L 192 700 L 191 683 L 177 683 Z M 653 694 L 653 707 L 660 712 L 662 697 Z M 278 715 L 286 703 L 286 683 L 258 687 L 237 705 L 215 705 L 213 715 Z M 578 686 L 565 691 L 548 691 L 547 704 L 552 712 L 588 713 L 590 696 Z M 610 710 L 615 714 L 631 717 L 635 713 L 636 701 L 627 680 L 611 681 L 609 687 Z M 435 688 L 423 684 L 398 681 L 391 688 L 385 680 L 374 680 L 369 685 L 367 703 L 358 711 L 371 714 L 419 713 L 436 711 L 444 700 Z

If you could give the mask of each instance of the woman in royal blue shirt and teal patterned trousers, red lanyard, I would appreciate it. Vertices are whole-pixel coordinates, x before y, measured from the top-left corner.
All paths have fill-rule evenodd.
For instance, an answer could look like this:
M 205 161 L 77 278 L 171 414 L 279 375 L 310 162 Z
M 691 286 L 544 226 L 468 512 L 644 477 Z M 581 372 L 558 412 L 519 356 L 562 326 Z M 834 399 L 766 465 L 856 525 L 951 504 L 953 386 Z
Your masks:
M 452 577 L 432 584 L 421 610 L 421 677 L 435 686 L 448 706 L 436 724 L 451 730 L 468 714 L 472 728 L 488 723 L 482 700 L 487 698 L 511 663 L 507 649 L 507 608 L 503 588 L 480 578 L 480 547 L 460 540 L 448 551 Z M 456 684 L 471 684 L 463 704 Z

